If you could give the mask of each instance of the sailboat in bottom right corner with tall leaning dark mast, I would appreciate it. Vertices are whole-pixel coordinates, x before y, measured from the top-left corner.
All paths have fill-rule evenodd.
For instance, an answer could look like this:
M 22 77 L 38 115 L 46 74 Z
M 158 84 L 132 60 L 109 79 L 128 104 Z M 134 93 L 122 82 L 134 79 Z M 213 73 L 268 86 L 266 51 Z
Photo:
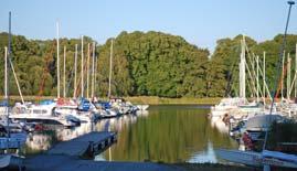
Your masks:
M 289 23 L 290 10 L 291 10 L 291 6 L 295 4 L 295 2 L 288 1 L 288 4 L 289 4 L 288 18 L 287 18 L 286 29 L 285 29 L 284 40 L 283 40 L 284 42 L 283 42 L 283 45 L 282 45 L 280 51 L 279 51 L 280 53 L 279 53 L 279 61 L 278 61 L 277 70 L 280 68 L 282 53 L 285 50 L 286 34 L 287 34 L 287 28 L 288 28 L 288 23 Z M 268 124 L 271 124 L 273 121 L 272 118 L 274 115 L 272 113 L 273 113 L 273 108 L 274 108 L 274 101 L 275 101 L 277 82 L 278 82 L 279 75 L 280 74 L 278 73 L 278 76 L 276 77 L 275 89 L 274 89 L 275 93 L 274 93 L 273 101 L 272 101 L 272 105 L 269 108 L 271 111 L 267 115 L 267 117 L 265 117 L 265 120 L 267 118 L 266 121 L 268 121 Z M 263 117 L 261 117 L 261 118 L 263 119 Z M 254 125 L 254 122 L 255 121 L 253 121 L 252 124 Z M 267 122 L 262 124 L 262 125 L 265 127 L 268 126 Z M 271 165 L 297 169 L 297 156 L 296 154 L 289 154 L 289 153 L 284 153 L 284 152 L 279 152 L 279 151 L 269 151 L 269 150 L 265 149 L 266 142 L 267 142 L 267 135 L 268 135 L 267 132 L 268 132 L 268 129 L 266 128 L 262 152 L 218 149 L 218 150 L 215 150 L 215 153 L 219 158 L 221 158 L 223 160 L 231 161 L 231 162 L 242 163 L 242 164 L 252 165 L 252 167 L 263 167 L 264 171 L 269 171 Z

